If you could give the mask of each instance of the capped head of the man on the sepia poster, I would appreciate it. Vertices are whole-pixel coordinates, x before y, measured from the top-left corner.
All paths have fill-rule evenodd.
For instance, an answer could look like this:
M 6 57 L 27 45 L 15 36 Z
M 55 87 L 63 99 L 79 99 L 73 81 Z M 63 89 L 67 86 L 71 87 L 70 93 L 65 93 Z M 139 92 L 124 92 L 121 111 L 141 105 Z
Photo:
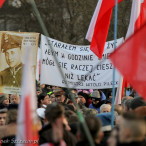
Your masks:
M 16 67 L 21 63 L 22 37 L 3 34 L 2 51 L 5 53 L 6 62 L 10 67 Z

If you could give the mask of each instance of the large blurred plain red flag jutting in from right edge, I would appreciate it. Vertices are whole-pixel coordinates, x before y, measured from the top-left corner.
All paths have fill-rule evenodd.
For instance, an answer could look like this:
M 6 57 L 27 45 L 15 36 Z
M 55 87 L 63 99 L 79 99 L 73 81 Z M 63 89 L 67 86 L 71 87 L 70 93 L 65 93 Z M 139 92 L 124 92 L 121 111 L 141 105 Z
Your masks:
M 123 77 L 146 100 L 146 24 L 109 58 Z

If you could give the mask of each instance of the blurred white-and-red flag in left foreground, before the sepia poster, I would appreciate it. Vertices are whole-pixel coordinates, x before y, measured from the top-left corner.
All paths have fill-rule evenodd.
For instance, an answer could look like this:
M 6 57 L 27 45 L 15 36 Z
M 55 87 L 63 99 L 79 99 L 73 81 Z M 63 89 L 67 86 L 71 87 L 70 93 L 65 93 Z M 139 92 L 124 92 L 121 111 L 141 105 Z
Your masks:
M 19 105 L 17 119 L 17 146 L 37 146 L 38 131 L 37 131 L 37 101 L 35 97 L 35 82 L 33 71 L 31 69 L 32 58 L 31 48 L 26 50 L 25 65 L 23 69 L 22 79 L 22 96 Z M 25 141 L 27 143 L 25 143 Z

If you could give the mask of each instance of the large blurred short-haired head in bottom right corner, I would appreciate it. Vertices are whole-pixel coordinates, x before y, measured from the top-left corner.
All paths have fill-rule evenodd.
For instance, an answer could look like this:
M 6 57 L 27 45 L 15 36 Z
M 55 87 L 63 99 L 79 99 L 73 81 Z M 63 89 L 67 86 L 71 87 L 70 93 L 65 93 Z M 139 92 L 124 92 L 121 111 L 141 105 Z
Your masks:
M 133 112 L 122 115 L 119 125 L 120 143 L 142 141 L 146 134 L 146 120 Z

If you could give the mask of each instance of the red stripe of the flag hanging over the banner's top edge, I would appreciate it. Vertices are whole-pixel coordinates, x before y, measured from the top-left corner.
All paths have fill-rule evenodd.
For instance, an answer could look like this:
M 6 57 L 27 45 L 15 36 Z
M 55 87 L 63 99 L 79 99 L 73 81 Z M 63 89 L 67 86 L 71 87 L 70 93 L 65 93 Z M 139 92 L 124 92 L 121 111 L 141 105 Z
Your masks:
M 118 3 L 122 0 L 118 0 Z M 100 59 L 104 52 L 104 46 L 107 39 L 109 30 L 112 9 L 115 6 L 115 0 L 103 0 L 97 21 L 94 28 L 94 33 L 90 45 L 91 51 L 93 51 Z

